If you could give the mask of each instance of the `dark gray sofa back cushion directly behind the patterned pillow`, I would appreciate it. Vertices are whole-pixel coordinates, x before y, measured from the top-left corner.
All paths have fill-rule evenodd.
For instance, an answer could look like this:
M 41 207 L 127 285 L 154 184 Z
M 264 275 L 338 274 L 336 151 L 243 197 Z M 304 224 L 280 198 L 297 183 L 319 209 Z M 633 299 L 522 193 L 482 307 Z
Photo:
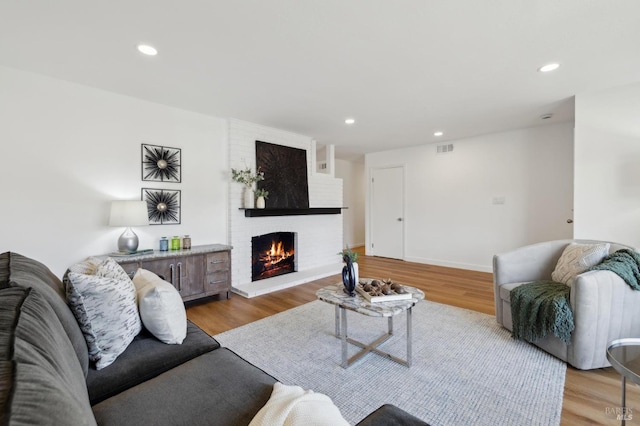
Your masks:
M 62 282 L 42 263 L 18 253 L 0 254 L 0 279 L 3 286 L 35 288 L 49 303 L 64 327 L 84 374 L 89 367 L 87 342 L 78 326 L 76 318 L 69 310 Z

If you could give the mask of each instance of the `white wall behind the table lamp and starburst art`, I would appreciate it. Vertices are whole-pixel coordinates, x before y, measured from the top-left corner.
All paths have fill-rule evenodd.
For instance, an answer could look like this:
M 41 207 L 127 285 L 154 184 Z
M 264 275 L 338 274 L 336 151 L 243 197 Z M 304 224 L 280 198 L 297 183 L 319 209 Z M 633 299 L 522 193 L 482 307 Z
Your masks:
M 0 252 L 33 257 L 62 276 L 116 249 L 110 201 L 143 187 L 182 191 L 182 223 L 136 228 L 140 248 L 161 236 L 227 242 L 226 120 L 0 67 Z M 182 183 L 141 180 L 141 144 L 182 149 Z

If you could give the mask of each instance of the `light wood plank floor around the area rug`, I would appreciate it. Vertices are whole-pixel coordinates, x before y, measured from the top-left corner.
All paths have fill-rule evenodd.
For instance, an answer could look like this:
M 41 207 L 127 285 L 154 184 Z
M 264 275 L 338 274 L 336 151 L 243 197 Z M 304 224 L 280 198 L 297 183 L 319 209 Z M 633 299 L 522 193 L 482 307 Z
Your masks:
M 360 276 L 392 278 L 422 289 L 428 300 L 494 314 L 493 283 L 489 273 L 360 256 Z M 245 299 L 233 295 L 229 300 L 213 299 L 190 305 L 187 316 L 211 335 L 316 300 L 316 291 L 341 281 L 338 275 Z M 563 425 L 617 425 L 607 416 L 607 408 L 620 406 L 620 376 L 613 368 L 590 371 L 567 368 L 562 407 Z M 640 421 L 640 388 L 627 384 L 627 404 L 633 420 Z M 637 414 L 636 414 L 637 413 Z M 633 424 L 633 421 L 628 422 Z

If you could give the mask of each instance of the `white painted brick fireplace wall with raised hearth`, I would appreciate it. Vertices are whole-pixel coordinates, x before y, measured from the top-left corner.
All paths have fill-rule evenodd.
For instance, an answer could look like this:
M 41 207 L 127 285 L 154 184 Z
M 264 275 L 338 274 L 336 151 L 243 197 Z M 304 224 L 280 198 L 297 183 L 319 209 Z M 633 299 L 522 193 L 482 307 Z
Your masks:
M 229 120 L 228 138 L 229 168 L 255 170 L 256 141 L 306 150 L 309 207 L 342 206 L 342 179 L 316 173 L 311 138 L 235 119 Z M 228 205 L 235 293 L 253 297 L 340 273 L 342 259 L 336 253 L 342 248 L 341 214 L 245 217 L 242 185 L 234 182 L 229 184 Z M 295 235 L 295 271 L 252 280 L 252 238 L 276 232 Z

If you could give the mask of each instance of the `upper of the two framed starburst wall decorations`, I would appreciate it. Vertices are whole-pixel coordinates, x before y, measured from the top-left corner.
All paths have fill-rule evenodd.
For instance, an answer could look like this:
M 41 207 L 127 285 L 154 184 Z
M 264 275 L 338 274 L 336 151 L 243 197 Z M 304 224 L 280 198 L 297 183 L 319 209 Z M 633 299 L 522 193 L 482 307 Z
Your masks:
M 142 144 L 142 180 L 180 182 L 181 162 L 179 148 Z

